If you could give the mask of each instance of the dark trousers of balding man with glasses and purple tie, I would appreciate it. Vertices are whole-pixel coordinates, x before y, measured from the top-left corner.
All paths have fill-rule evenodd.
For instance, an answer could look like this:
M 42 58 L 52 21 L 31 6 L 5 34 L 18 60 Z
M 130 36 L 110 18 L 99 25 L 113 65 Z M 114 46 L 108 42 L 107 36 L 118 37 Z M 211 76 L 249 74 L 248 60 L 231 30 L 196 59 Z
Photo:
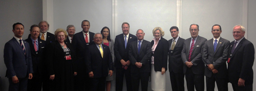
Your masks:
M 204 90 L 204 75 L 194 74 L 191 70 L 191 67 L 187 67 L 186 71 L 186 82 L 187 82 L 187 90 L 194 91 L 195 87 L 197 91 Z

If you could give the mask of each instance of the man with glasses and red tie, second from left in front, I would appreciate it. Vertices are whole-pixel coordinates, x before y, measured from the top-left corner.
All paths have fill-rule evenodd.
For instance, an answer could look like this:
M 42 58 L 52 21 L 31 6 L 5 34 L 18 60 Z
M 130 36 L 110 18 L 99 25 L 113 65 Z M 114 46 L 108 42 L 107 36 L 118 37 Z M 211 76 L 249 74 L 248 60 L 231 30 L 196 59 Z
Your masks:
M 26 39 L 30 45 L 32 64 L 33 64 L 33 79 L 28 80 L 28 90 L 30 91 L 40 91 L 42 86 L 42 77 L 45 73 L 45 47 L 46 41 L 38 38 L 39 36 L 39 26 L 32 25 L 30 27 L 31 37 Z

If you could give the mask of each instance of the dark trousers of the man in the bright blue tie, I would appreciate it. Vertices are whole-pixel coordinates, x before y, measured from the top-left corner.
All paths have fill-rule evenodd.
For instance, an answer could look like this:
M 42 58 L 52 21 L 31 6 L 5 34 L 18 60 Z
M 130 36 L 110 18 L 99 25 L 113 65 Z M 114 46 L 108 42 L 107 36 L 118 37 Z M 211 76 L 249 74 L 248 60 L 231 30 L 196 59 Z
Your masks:
M 217 73 L 218 74 L 218 73 Z M 207 91 L 214 91 L 215 81 L 219 91 L 228 91 L 227 78 L 217 78 L 215 74 L 212 73 L 211 77 L 205 77 L 206 79 L 206 89 Z

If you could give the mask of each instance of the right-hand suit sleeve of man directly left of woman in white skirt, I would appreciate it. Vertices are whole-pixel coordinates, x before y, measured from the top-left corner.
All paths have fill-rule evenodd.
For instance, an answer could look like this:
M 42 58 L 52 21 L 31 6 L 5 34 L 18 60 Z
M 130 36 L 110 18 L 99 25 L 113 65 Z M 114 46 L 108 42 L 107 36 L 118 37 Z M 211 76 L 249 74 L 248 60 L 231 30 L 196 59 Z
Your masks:
M 142 64 L 146 64 L 148 63 L 148 61 L 150 60 L 152 55 L 152 51 L 151 51 L 151 43 L 148 42 L 146 44 L 146 54 L 144 55 L 144 57 L 142 58 L 142 60 L 140 61 Z

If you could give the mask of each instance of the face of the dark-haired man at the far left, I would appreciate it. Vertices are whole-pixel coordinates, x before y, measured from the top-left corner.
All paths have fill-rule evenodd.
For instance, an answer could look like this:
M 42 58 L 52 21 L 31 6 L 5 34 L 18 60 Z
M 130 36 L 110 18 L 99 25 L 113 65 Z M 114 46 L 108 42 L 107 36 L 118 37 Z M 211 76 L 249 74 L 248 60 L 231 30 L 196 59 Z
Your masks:
M 22 25 L 15 25 L 14 30 L 12 30 L 14 36 L 21 39 L 24 33 L 24 27 Z

